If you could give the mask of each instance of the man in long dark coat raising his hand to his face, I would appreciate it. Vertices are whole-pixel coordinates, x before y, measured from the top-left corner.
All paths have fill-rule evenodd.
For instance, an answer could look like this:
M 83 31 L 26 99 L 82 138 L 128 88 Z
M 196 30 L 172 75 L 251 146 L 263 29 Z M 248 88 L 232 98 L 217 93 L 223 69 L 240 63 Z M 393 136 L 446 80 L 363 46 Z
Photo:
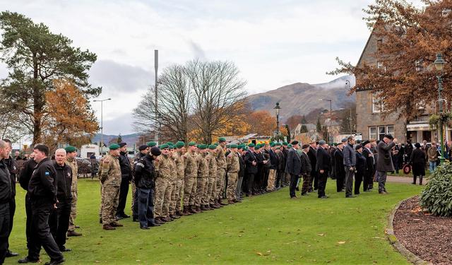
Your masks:
M 377 148 L 378 160 L 376 162 L 377 177 L 379 179 L 379 194 L 386 194 L 386 172 L 394 171 L 393 161 L 391 157 L 391 149 L 397 143 L 397 139 L 386 134 L 383 141 L 380 141 Z

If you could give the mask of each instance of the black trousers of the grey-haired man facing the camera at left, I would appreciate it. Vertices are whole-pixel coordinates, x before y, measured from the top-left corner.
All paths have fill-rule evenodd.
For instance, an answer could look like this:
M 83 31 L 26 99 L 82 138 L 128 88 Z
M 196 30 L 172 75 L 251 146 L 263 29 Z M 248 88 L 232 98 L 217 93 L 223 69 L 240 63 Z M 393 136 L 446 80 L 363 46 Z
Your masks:
M 71 200 L 59 201 L 57 208 L 50 213 L 50 232 L 54 237 L 59 249 L 64 249 L 66 244 L 66 232 L 69 228 L 69 217 L 71 216 Z

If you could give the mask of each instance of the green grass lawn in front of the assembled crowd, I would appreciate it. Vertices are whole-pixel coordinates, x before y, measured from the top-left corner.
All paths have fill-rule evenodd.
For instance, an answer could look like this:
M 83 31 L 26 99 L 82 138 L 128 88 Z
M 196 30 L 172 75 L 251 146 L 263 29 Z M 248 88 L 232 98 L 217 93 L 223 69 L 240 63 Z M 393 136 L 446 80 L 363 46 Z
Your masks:
M 386 196 L 374 191 L 345 199 L 328 179 L 326 200 L 316 194 L 291 200 L 286 187 L 150 230 L 128 218 L 124 228 L 105 231 L 97 215 L 99 182 L 81 179 L 78 188 L 83 237 L 66 242 L 73 249 L 64 254 L 66 264 L 408 264 L 386 240 L 386 219 L 398 201 L 422 189 L 388 183 Z M 27 253 L 24 196 L 18 186 L 10 249 L 19 257 Z M 49 260 L 44 250 L 41 259 Z

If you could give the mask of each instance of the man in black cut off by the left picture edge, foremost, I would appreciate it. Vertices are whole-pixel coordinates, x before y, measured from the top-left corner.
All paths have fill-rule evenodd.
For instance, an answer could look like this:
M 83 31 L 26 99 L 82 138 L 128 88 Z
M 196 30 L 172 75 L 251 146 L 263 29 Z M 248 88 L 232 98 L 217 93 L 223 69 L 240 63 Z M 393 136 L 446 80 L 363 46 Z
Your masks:
M 4 161 L 8 154 L 8 143 L 0 141 L 0 264 L 4 263 L 8 250 L 9 203 L 12 196 L 11 177 Z

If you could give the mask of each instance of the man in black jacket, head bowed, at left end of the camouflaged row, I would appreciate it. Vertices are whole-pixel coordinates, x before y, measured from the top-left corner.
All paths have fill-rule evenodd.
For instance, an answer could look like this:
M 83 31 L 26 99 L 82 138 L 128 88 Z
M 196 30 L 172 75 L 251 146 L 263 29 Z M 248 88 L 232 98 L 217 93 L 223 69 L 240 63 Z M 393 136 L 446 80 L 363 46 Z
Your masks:
M 138 220 L 141 229 L 149 229 L 149 226 L 160 226 L 154 220 L 153 194 L 155 189 L 155 167 L 153 160 L 161 154 L 160 148 L 150 148 L 150 153 L 144 155 L 135 164 L 135 185 L 138 197 Z

